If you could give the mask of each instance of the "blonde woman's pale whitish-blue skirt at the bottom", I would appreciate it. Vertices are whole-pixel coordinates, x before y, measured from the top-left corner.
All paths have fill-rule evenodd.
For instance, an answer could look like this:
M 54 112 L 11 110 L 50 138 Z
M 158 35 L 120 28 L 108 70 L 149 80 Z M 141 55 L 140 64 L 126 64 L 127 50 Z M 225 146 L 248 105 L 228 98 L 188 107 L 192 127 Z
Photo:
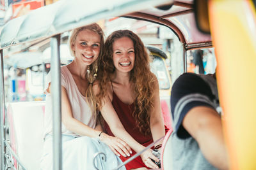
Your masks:
M 99 154 L 95 162 L 93 157 Z M 52 136 L 47 135 L 44 142 L 44 152 L 40 167 L 42 170 L 52 170 Z M 111 149 L 97 138 L 87 136 L 74 138 L 62 135 L 62 169 L 63 170 L 111 170 L 122 164 L 122 160 L 111 151 Z M 126 170 L 120 167 L 119 170 Z

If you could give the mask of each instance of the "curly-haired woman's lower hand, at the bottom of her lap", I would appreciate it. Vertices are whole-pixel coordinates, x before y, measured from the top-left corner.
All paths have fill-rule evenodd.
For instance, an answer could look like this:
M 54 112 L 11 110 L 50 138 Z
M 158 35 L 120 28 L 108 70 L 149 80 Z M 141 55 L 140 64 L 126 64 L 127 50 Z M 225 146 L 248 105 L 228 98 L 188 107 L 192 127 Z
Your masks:
M 143 163 L 147 166 L 150 167 L 152 169 L 158 169 L 159 167 L 151 160 L 155 160 L 155 162 L 158 162 L 159 159 L 157 159 L 157 157 L 155 155 L 153 155 L 152 150 L 148 149 L 145 152 L 141 153 L 140 155 Z

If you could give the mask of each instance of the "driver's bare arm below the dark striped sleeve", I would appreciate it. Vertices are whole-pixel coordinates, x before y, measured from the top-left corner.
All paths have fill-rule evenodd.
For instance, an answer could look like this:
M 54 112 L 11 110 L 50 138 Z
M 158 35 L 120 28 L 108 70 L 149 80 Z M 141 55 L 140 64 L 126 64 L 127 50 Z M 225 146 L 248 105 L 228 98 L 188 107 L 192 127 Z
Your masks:
M 218 169 L 228 169 L 221 118 L 214 109 L 196 106 L 188 111 L 182 125 L 196 139 L 205 159 Z

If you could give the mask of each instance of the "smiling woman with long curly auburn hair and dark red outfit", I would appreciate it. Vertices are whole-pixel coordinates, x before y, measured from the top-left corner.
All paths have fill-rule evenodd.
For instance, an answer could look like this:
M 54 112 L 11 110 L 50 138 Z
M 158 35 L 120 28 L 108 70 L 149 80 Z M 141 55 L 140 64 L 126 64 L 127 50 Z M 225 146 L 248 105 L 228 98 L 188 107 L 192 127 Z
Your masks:
M 147 50 L 134 32 L 119 30 L 108 36 L 93 90 L 106 133 L 123 139 L 132 155 L 164 136 L 158 81 L 150 71 Z M 161 150 L 161 141 L 153 148 Z M 159 161 L 149 149 L 125 167 L 158 168 L 152 160 Z

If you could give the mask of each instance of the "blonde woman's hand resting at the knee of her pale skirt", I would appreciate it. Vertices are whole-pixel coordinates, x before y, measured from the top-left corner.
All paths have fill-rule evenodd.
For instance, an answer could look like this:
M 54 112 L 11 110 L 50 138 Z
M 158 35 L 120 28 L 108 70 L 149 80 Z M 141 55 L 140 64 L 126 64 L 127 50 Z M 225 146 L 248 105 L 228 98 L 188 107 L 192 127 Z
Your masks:
M 130 157 L 130 153 L 132 150 L 129 145 L 125 141 L 120 138 L 109 136 L 108 134 L 102 133 L 100 134 L 100 141 L 106 143 L 109 148 L 120 157 L 120 154 L 124 157 Z M 120 153 L 120 154 L 119 154 Z

